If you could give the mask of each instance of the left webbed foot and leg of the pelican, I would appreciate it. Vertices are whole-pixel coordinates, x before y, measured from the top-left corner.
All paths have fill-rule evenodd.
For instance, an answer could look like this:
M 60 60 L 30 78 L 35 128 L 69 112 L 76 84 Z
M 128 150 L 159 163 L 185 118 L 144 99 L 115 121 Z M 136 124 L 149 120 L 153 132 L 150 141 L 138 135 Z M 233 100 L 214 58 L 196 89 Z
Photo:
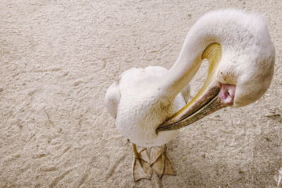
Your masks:
M 133 144 L 133 151 L 135 154 L 133 161 L 133 179 L 134 181 L 140 179 L 151 179 L 152 177 L 152 168 L 149 165 L 149 156 L 147 150 L 141 149 L 139 152 L 137 151 L 136 145 Z

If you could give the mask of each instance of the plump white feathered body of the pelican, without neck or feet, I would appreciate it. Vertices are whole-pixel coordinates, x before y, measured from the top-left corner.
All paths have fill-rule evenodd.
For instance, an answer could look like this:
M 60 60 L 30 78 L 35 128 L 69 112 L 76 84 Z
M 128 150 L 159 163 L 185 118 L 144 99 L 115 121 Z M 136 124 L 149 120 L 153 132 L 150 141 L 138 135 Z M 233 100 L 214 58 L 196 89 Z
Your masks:
M 173 102 L 160 99 L 159 78 L 168 70 L 159 66 L 131 68 L 121 75 L 118 84 L 111 86 L 106 95 L 109 111 L 117 108 L 116 125 L 120 132 L 139 146 L 161 146 L 176 137 L 178 130 L 156 133 L 157 125 L 185 106 L 190 94 L 190 87 L 185 87 Z M 119 96 L 121 98 L 119 99 Z M 185 97 L 184 97 L 185 96 Z M 110 102 L 110 99 L 115 99 Z M 132 113 L 135 111 L 136 113 Z M 137 135 L 137 136 L 136 136 Z

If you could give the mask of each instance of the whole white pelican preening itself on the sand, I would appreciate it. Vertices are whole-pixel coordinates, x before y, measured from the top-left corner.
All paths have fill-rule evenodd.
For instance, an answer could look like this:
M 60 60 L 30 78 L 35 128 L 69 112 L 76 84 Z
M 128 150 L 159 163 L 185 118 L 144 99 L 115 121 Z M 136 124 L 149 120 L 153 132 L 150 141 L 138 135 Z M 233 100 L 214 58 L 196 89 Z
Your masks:
M 204 59 L 207 79 L 193 99 L 189 82 Z M 133 143 L 133 178 L 151 178 L 153 170 L 174 175 L 166 143 L 178 130 L 229 106 L 257 101 L 274 73 L 275 50 L 266 22 L 240 10 L 209 12 L 192 26 L 176 63 L 131 68 L 106 91 L 106 108 L 123 136 Z M 137 146 L 146 148 L 137 151 Z

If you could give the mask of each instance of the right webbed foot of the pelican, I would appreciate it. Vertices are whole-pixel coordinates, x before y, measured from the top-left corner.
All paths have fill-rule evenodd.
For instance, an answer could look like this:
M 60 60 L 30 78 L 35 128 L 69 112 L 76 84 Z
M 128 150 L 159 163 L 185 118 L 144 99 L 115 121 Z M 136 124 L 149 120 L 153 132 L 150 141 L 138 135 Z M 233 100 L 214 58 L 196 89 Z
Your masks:
M 168 156 L 166 156 L 166 145 L 152 147 L 150 164 L 159 176 L 159 179 L 161 179 L 163 175 L 176 175 L 171 161 L 169 161 Z

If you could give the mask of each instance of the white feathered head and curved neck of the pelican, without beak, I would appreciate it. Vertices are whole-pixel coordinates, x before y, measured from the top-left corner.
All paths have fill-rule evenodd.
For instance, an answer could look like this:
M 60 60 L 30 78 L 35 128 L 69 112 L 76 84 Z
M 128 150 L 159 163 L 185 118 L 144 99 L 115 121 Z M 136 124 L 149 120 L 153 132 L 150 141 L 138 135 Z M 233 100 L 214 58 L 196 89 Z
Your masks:
M 161 87 L 172 98 L 176 96 L 197 73 L 204 49 L 214 42 L 222 49 L 216 80 L 237 88 L 232 107 L 257 101 L 274 73 L 274 44 L 261 16 L 239 10 L 203 15 L 189 30 L 178 60 L 161 79 Z

